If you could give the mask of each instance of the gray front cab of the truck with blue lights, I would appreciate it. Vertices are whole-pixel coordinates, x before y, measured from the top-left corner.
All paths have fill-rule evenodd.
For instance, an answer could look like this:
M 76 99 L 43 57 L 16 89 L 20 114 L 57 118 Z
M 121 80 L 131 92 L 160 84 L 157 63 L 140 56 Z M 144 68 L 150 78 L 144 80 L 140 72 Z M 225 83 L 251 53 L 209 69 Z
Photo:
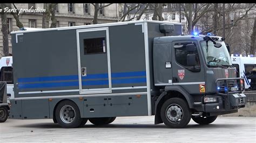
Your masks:
M 245 106 L 244 79 L 236 76 L 221 37 L 154 38 L 153 67 L 154 85 L 161 91 L 155 103 L 155 124 L 164 121 L 173 127 L 175 123 L 183 124 L 180 120 L 186 118 L 186 107 L 181 103 L 170 102 L 163 110 L 166 98 L 183 98 L 191 109 L 192 119 L 199 124 L 210 124 L 218 115 L 237 112 Z

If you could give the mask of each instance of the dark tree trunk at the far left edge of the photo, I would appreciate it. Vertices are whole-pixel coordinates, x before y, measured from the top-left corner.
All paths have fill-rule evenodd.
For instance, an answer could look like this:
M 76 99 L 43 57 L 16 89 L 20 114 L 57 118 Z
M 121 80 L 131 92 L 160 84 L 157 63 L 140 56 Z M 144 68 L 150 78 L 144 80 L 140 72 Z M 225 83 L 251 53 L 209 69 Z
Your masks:
M 6 7 L 5 3 L 1 3 L 1 9 Z M 3 33 L 3 54 L 2 56 L 9 56 L 9 38 L 8 38 L 8 25 L 6 12 L 1 12 L 1 22 L 2 22 L 2 33 Z

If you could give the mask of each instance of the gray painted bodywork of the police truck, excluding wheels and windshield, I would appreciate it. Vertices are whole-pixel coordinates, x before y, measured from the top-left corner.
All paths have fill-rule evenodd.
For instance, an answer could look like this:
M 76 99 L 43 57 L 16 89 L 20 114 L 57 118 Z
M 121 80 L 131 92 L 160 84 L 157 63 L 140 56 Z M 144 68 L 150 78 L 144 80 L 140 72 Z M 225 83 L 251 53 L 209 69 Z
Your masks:
M 161 24 L 174 30 L 161 33 Z M 10 117 L 55 118 L 56 106 L 69 99 L 81 118 L 157 115 L 158 124 L 160 106 L 170 93 L 182 95 L 194 112 L 236 112 L 244 104 L 224 108 L 216 91 L 219 78 L 235 78 L 234 68 L 208 68 L 199 45 L 203 38 L 180 34 L 179 23 L 147 20 L 12 32 L 15 99 Z M 103 41 L 103 51 L 88 54 L 90 39 Z M 182 41 L 196 44 L 200 71 L 176 62 L 173 47 Z M 203 104 L 208 95 L 219 102 Z

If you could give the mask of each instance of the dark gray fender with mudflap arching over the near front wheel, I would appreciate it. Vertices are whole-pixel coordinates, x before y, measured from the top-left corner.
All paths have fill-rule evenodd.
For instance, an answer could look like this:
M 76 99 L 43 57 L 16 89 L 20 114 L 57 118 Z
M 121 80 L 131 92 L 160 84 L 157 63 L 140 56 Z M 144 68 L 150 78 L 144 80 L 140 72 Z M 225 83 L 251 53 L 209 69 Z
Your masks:
M 188 94 L 188 92 L 184 88 L 180 87 L 179 85 L 167 85 L 165 86 L 165 91 L 160 94 L 160 96 L 157 98 L 156 103 L 154 104 L 154 124 L 163 123 L 160 117 L 160 112 L 157 112 L 157 105 L 159 104 L 161 99 L 167 94 L 167 91 L 180 92 L 186 98 L 189 108 L 194 108 L 194 98 L 190 94 Z

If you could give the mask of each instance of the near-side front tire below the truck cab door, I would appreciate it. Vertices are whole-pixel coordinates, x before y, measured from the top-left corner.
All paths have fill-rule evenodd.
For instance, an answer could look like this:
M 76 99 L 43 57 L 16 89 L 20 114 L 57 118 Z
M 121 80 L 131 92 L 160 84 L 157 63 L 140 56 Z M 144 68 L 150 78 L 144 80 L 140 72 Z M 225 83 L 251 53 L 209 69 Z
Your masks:
M 190 122 L 191 110 L 184 99 L 171 98 L 162 105 L 160 116 L 167 127 L 183 128 Z

